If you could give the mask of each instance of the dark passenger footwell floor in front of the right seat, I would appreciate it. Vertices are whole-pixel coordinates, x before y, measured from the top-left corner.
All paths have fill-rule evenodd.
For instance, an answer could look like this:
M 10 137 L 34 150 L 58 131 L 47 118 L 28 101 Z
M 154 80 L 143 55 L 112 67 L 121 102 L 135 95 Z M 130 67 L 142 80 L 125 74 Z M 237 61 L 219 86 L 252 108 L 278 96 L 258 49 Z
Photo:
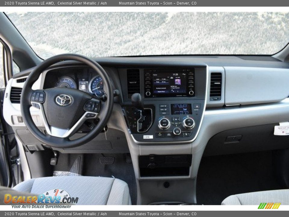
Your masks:
M 272 152 L 203 157 L 197 202 L 220 205 L 232 194 L 282 189 L 273 173 Z

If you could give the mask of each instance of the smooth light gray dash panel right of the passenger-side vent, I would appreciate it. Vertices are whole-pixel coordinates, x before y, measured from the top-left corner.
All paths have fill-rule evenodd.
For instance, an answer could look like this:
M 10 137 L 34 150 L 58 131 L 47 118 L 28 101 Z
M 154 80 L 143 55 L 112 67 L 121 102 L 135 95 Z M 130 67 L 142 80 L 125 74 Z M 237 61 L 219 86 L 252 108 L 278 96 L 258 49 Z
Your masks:
M 225 68 L 225 105 L 278 102 L 289 96 L 289 69 Z

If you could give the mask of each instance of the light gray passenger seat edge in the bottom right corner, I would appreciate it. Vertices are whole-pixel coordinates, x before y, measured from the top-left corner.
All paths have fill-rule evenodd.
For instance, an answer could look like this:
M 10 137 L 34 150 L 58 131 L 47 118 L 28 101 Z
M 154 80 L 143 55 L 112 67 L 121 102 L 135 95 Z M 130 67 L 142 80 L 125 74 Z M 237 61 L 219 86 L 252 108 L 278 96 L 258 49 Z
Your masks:
M 235 194 L 222 201 L 222 205 L 259 205 L 260 203 L 289 205 L 289 189 Z

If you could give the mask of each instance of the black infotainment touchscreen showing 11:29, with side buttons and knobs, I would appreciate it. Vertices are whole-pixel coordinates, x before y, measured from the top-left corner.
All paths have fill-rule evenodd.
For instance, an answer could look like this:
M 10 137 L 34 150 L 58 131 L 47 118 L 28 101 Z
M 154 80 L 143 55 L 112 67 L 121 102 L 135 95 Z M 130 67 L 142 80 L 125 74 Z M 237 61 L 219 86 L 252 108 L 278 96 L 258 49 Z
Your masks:
M 154 69 L 145 73 L 146 97 L 194 96 L 193 69 Z

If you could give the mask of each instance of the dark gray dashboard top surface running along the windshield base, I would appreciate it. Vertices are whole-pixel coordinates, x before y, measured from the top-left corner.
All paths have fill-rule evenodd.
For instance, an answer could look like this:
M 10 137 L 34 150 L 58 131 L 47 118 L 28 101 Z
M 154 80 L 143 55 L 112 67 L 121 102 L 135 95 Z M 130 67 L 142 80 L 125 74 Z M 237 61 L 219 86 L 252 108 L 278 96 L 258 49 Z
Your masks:
M 106 67 L 149 68 L 149 67 L 203 67 L 203 66 L 236 66 L 261 68 L 289 68 L 289 63 L 279 61 L 271 56 L 262 55 L 206 55 L 206 56 L 143 56 L 143 57 L 101 57 L 93 58 Z M 77 61 L 63 61 L 51 66 L 83 65 Z M 13 78 L 29 75 L 33 68 L 14 74 Z

